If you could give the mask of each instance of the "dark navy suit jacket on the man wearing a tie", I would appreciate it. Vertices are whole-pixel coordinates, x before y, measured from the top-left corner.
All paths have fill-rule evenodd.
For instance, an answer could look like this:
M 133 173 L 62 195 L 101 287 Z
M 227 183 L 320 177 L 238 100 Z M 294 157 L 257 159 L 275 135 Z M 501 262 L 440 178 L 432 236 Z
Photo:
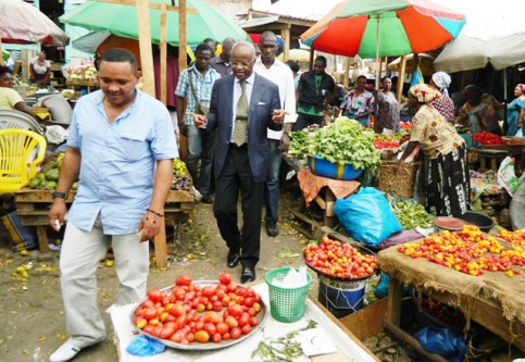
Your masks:
M 217 128 L 215 148 L 215 177 L 221 175 L 232 139 L 234 116 L 235 75 L 217 79 L 213 85 L 207 132 Z M 282 129 L 280 124 L 272 121 L 274 110 L 280 109 L 277 85 L 255 74 L 253 90 L 248 108 L 248 157 L 255 183 L 266 179 L 268 165 L 268 139 L 266 128 Z

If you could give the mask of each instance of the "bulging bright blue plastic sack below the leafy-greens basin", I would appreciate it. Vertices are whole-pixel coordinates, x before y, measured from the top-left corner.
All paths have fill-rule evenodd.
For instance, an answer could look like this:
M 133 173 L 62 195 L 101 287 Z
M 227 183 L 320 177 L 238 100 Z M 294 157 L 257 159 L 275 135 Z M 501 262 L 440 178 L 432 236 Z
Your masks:
M 337 199 L 334 212 L 351 238 L 372 247 L 403 229 L 385 196 L 373 187 Z

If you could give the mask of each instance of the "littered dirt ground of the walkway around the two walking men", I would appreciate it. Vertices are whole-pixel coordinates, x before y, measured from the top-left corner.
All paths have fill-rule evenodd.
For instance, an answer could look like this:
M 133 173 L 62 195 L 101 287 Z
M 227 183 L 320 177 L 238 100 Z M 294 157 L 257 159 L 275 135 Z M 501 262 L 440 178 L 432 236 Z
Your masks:
M 289 211 L 297 208 L 297 202 L 295 196 L 283 194 L 278 223 L 280 233 L 276 238 L 266 235 L 263 223 L 257 280 L 264 280 L 264 274 L 276 267 L 304 265 L 301 252 L 308 239 L 293 229 L 287 219 Z M 182 273 L 191 275 L 193 279 L 216 279 L 218 273 L 228 271 L 239 282 L 241 266 L 235 270 L 226 266 L 227 249 L 218 234 L 212 205 L 196 203 L 188 220 L 170 234 L 176 237 L 168 240 L 168 266 L 159 270 L 152 260 L 148 288 L 173 285 L 175 277 Z M 152 247 L 150 254 L 154 255 Z M 58 266 L 58 251 L 40 253 L 34 250 L 24 257 L 12 252 L 7 236 L 0 236 L 1 361 L 48 361 L 49 355 L 67 339 Z M 103 313 L 116 301 L 116 275 L 113 267 L 107 266 L 107 261 L 101 261 L 97 277 L 99 309 L 104 315 L 108 337 L 101 344 L 83 350 L 75 359 L 78 362 L 118 360 L 111 321 Z M 310 292 L 316 294 L 316 288 L 311 288 Z

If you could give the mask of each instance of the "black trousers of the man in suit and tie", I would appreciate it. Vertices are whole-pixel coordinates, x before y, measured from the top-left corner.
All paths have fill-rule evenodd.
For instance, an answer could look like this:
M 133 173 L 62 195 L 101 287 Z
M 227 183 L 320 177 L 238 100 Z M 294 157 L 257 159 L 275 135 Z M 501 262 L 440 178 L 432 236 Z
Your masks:
M 241 197 L 242 228 L 237 224 L 237 201 Z M 255 266 L 261 249 L 261 214 L 264 182 L 255 183 L 248 147 L 229 146 L 221 175 L 215 179 L 213 213 L 229 250 L 240 254 L 242 266 Z

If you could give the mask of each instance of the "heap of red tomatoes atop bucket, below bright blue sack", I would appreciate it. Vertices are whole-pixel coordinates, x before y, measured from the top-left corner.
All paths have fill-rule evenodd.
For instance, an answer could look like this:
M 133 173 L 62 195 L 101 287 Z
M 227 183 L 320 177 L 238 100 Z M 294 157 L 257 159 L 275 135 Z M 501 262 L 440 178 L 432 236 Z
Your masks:
M 345 279 L 367 277 L 377 269 L 375 255 L 362 254 L 350 244 L 332 240 L 327 236 L 323 236 L 320 244 L 307 247 L 304 261 L 323 275 Z

